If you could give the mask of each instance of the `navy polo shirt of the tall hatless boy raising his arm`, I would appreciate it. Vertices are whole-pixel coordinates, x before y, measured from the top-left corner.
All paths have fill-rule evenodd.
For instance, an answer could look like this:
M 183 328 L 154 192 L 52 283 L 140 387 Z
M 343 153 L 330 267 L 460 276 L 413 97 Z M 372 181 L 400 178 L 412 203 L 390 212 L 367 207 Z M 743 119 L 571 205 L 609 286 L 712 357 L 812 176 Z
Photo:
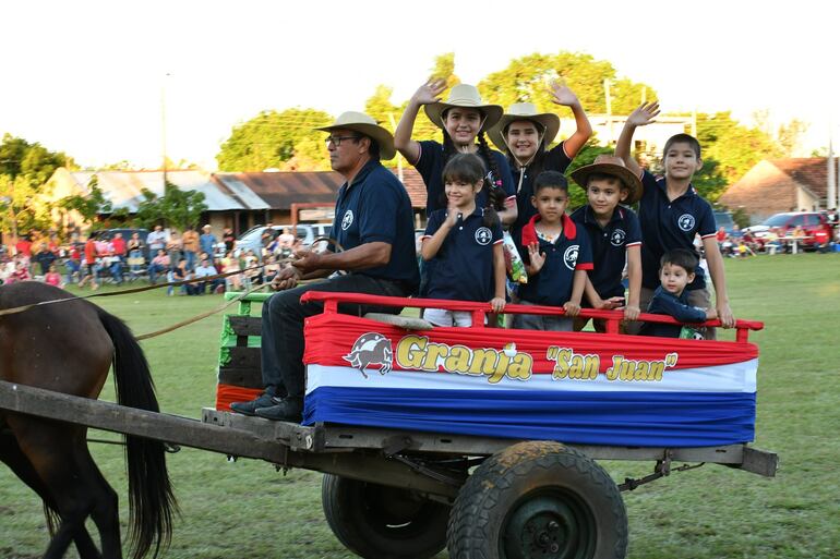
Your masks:
M 715 236 L 715 215 L 694 186 L 676 199 L 668 199 L 665 179 L 657 180 L 648 171 L 641 173 L 645 192 L 639 200 L 641 223 L 641 284 L 648 289 L 659 287 L 659 260 L 673 248 L 694 251 L 694 238 Z M 698 265 L 695 278 L 686 289 L 704 289 L 706 278 Z

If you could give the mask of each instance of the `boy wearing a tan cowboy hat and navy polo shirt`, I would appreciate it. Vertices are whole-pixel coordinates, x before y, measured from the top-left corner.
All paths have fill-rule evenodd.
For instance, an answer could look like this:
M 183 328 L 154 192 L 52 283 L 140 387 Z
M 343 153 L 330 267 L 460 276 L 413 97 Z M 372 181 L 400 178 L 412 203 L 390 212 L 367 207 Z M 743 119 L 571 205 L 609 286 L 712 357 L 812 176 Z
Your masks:
M 612 155 L 600 155 L 592 165 L 575 170 L 572 180 L 586 190 L 588 199 L 572 214 L 572 220 L 589 233 L 592 246 L 595 268 L 586 281 L 586 306 L 610 309 L 624 305 L 622 272 L 626 260 L 629 292 L 624 318 L 635 320 L 641 288 L 641 229 L 636 214 L 622 204 L 635 204 L 641 197 L 641 181 L 622 158 Z M 583 330 L 588 321 L 576 318 L 575 330 Z M 595 320 L 595 329 L 607 331 L 604 321 Z

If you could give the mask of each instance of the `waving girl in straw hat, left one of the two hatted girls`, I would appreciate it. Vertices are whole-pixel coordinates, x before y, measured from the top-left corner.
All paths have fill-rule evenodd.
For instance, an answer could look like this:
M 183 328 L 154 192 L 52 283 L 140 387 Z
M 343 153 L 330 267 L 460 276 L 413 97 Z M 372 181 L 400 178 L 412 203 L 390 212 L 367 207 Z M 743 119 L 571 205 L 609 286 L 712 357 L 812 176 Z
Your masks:
M 443 168 L 451 156 L 466 151 L 478 154 L 489 169 L 485 186 L 476 198 L 477 206 L 485 208 L 492 202 L 502 223 L 513 223 L 516 220 L 516 204 L 511 168 L 505 157 L 490 149 L 484 139 L 484 133 L 502 116 L 502 107 L 483 102 L 478 89 L 467 84 L 454 86 L 448 99 L 442 102 L 440 95 L 445 87 L 443 80 L 433 80 L 420 86 L 408 101 L 394 132 L 397 149 L 417 168 L 425 183 L 427 216 L 446 207 Z M 411 138 L 420 107 L 423 107 L 429 120 L 443 131 L 443 144 Z

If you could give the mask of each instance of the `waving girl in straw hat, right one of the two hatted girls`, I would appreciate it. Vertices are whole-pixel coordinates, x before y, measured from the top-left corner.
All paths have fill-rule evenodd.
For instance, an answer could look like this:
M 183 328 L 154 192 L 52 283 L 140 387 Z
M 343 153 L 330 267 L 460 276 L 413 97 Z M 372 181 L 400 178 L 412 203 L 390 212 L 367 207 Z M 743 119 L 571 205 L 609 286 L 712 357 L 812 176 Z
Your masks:
M 560 131 L 560 118 L 552 112 L 539 112 L 531 102 L 512 105 L 488 131 L 493 144 L 507 155 L 514 170 L 517 184 L 517 217 L 511 227 L 514 239 L 519 238 L 521 228 L 537 212 L 531 204 L 533 179 L 542 171 L 565 172 L 592 135 L 589 119 L 572 89 L 555 82 L 551 84 L 550 92 L 552 102 L 571 108 L 575 116 L 576 130 L 567 139 L 548 148 Z

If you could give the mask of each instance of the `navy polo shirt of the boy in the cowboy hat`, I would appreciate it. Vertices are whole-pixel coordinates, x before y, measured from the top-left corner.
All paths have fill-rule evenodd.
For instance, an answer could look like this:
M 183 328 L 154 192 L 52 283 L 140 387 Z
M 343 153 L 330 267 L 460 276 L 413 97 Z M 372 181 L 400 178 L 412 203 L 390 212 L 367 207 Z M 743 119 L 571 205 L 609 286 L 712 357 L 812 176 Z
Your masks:
M 601 227 L 592 211 L 592 207 L 577 208 L 572 214 L 572 220 L 585 229 L 592 245 L 592 264 L 589 281 L 601 296 L 624 296 L 622 272 L 627 259 L 627 247 L 641 244 L 639 218 L 632 209 L 616 206 L 607 227 Z

